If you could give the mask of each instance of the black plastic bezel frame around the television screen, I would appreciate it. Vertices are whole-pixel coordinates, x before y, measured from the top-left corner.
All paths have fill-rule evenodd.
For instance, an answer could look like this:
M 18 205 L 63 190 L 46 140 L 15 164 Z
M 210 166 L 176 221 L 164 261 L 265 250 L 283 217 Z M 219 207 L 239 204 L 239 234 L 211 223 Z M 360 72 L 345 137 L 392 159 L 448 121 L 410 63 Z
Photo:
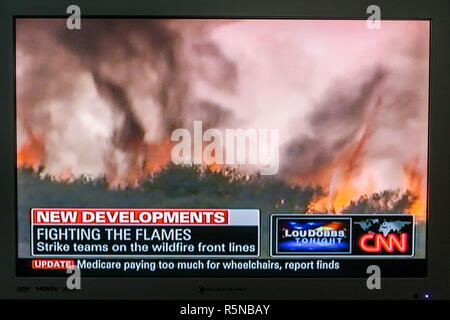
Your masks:
M 0 298 L 9 299 L 412 299 L 427 292 L 434 298 L 450 297 L 450 225 L 448 208 L 449 111 L 447 32 L 449 5 L 445 1 L 424 3 L 378 1 L 382 19 L 430 20 L 430 108 L 427 270 L 425 278 L 382 279 L 382 290 L 368 290 L 363 278 L 85 278 L 82 290 L 67 291 L 66 278 L 16 275 L 16 141 L 15 141 L 15 34 L 17 17 L 67 17 L 68 1 L 3 1 L 0 4 L 0 139 L 3 157 L 0 172 L 4 212 L 0 215 Z M 366 19 L 370 1 L 77 1 L 83 16 L 143 18 L 279 18 Z M 444 138 L 443 138 L 444 137 Z M 444 150 L 444 152 L 442 152 Z M 444 174 L 442 174 L 444 173 Z M 28 287 L 28 290 L 21 290 Z M 47 289 L 46 289 L 47 288 Z M 49 289 L 50 288 L 50 289 Z M 56 289 L 56 290 L 55 290 Z

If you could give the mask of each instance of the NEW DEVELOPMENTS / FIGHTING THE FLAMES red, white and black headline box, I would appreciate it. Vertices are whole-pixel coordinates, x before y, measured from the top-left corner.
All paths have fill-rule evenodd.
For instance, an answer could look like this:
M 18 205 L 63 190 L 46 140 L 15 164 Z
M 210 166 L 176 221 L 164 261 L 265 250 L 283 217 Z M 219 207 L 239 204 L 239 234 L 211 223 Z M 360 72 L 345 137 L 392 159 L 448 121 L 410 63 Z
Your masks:
M 257 209 L 31 211 L 35 257 L 256 257 Z

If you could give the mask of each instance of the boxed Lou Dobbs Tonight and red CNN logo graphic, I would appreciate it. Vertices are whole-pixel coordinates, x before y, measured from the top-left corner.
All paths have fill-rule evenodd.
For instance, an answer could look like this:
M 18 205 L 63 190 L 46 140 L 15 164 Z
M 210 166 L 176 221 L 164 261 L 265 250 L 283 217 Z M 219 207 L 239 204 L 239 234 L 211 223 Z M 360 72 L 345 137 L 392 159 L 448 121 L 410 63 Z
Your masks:
M 273 256 L 411 257 L 414 217 L 392 215 L 272 216 Z

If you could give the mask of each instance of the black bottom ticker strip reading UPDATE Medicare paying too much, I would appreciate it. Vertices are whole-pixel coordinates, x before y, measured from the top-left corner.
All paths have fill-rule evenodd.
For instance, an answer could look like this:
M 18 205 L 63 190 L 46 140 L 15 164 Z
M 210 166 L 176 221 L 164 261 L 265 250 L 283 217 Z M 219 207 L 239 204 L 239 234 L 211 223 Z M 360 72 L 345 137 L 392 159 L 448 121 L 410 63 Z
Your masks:
M 74 258 L 18 259 L 19 276 L 67 277 L 76 266 L 82 277 L 367 277 L 367 267 L 376 264 L 383 277 L 425 277 L 425 259 L 340 258 Z

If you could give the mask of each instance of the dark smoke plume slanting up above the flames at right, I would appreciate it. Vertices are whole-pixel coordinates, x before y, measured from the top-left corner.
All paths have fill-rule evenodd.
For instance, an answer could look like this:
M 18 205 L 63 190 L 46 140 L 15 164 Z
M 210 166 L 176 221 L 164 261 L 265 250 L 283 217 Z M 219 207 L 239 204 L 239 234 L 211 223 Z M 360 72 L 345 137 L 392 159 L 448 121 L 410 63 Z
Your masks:
M 285 172 L 308 179 L 322 172 L 343 148 L 353 144 L 359 131 L 370 124 L 367 117 L 375 111 L 375 106 L 369 100 L 383 77 L 382 71 L 375 70 L 352 95 L 342 92 L 343 86 L 351 84 L 337 84 L 332 88 L 324 101 L 316 106 L 317 111 L 306 118 L 311 126 L 311 136 L 301 136 L 288 144 Z M 333 134 L 329 134 L 330 131 Z

